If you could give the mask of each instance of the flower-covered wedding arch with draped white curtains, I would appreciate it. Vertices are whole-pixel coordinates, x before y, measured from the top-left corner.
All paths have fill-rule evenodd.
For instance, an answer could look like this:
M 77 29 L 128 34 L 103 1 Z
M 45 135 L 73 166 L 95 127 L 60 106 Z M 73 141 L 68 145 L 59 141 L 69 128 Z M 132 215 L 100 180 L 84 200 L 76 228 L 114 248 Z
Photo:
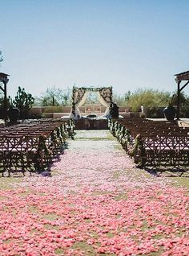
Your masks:
M 70 112 L 70 118 L 78 119 L 82 117 L 79 110 L 85 101 L 89 92 L 94 92 L 99 99 L 99 102 L 106 106 L 104 116 L 110 113 L 110 106 L 112 101 L 112 87 L 100 87 L 100 88 L 86 88 L 86 87 L 73 87 L 72 92 L 72 108 Z

